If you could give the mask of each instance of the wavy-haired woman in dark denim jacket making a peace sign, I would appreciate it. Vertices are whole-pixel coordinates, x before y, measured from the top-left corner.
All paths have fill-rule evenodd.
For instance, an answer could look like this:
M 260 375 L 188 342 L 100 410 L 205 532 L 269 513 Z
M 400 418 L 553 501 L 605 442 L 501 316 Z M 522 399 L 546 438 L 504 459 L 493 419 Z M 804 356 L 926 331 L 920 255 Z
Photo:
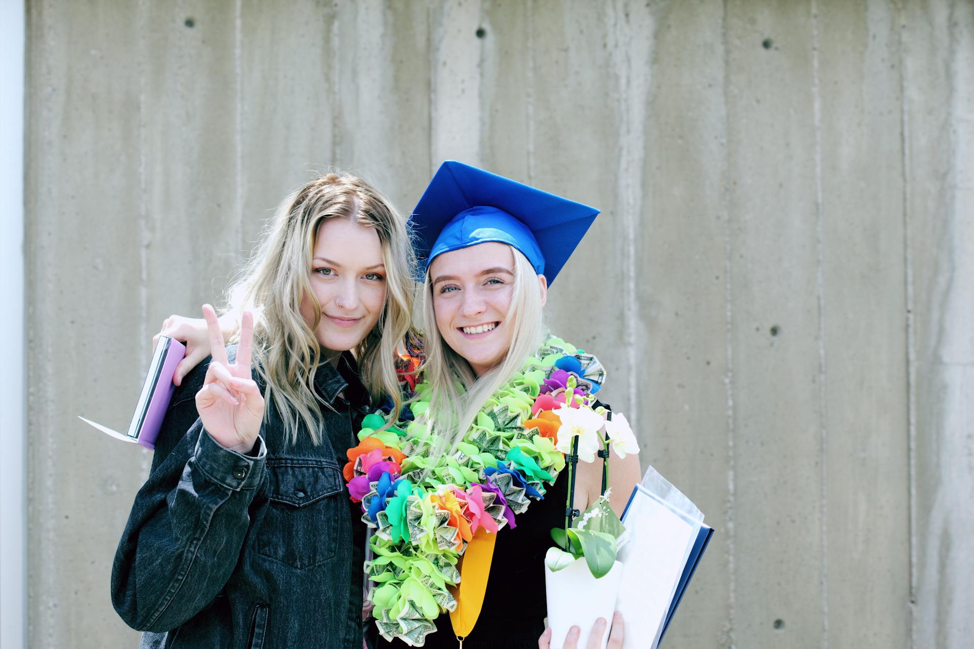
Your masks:
M 390 202 L 327 174 L 284 199 L 234 290 L 239 344 L 204 307 L 212 357 L 181 368 L 112 569 L 142 647 L 362 645 L 364 530 L 340 466 L 369 403 L 398 400 L 411 266 Z

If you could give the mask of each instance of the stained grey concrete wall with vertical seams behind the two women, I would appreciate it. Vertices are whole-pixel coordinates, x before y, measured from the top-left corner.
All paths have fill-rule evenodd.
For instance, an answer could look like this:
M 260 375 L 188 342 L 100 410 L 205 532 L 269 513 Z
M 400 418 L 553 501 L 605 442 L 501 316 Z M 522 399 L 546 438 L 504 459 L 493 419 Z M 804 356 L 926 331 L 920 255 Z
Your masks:
M 550 296 L 717 529 L 675 647 L 974 633 L 969 0 L 28 3 L 28 631 L 131 647 L 124 426 L 170 312 L 309 176 L 603 209 Z M 580 298 L 579 296 L 583 296 Z

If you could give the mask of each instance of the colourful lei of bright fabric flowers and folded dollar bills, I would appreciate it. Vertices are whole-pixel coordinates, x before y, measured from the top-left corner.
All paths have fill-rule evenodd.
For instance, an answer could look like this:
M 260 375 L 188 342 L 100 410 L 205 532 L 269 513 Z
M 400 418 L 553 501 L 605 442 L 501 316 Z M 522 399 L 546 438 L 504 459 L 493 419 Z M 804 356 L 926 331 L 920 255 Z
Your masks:
M 457 561 L 473 534 L 516 526 L 565 467 L 576 436 L 590 438 L 580 439 L 581 459 L 594 459 L 583 450 L 600 435 L 605 411 L 594 408 L 593 395 L 604 379 L 594 356 L 548 338 L 480 410 L 457 451 L 435 465 L 429 451 L 436 440 L 423 423 L 429 383 L 415 385 L 407 417 L 386 430 L 379 430 L 382 415 L 365 417 L 345 479 L 362 521 L 375 529 L 365 573 L 383 637 L 423 646 L 436 617 L 456 608 L 450 587 L 460 581 Z M 563 424 L 567 409 L 598 415 L 586 417 L 597 426 Z

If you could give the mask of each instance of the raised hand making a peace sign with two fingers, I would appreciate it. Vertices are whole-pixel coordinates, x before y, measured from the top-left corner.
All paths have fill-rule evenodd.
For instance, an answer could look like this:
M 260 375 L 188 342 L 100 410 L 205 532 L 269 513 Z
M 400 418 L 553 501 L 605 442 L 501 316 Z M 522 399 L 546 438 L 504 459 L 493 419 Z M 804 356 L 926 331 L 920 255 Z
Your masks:
M 257 383 L 250 378 L 253 314 L 244 311 L 235 363 L 227 360 L 227 349 L 213 307 L 204 305 L 203 316 L 213 358 L 206 369 L 203 388 L 196 393 L 196 410 L 204 427 L 220 446 L 248 453 L 253 450 L 264 418 L 264 397 Z

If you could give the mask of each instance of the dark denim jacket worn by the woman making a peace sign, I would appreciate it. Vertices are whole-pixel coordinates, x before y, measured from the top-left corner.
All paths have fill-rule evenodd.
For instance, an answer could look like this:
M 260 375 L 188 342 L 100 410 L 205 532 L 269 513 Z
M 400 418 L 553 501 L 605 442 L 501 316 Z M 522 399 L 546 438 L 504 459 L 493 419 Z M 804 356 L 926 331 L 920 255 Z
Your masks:
M 115 554 L 115 610 L 145 631 L 143 648 L 361 647 L 364 525 L 342 479 L 367 405 L 355 361 L 318 368 L 334 408 L 321 408 L 318 446 L 307 431 L 285 440 L 269 400 L 248 454 L 217 444 L 197 415 L 207 365 L 169 405 Z

